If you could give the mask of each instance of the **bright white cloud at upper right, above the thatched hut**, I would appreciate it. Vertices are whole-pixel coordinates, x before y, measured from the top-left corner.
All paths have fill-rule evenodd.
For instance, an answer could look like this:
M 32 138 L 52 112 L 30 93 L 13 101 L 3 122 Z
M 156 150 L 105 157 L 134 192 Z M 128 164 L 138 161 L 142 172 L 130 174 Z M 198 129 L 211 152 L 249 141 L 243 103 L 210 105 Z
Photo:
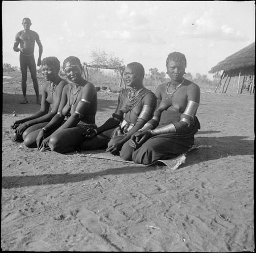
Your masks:
M 232 41 L 248 39 L 241 31 L 234 31 L 232 27 L 226 24 L 218 26 L 217 20 L 214 19 L 213 10 L 205 11 L 199 18 L 196 18 L 193 14 L 185 16 L 181 22 L 178 36 Z

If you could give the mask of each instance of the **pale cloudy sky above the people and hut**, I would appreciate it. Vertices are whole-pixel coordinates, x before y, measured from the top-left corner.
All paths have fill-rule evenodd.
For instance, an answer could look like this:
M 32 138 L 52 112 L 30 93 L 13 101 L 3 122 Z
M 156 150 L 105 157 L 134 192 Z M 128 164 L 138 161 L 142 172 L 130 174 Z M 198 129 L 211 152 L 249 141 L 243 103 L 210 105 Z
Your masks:
M 255 41 L 255 1 L 2 1 L 3 63 L 19 67 L 13 45 L 25 17 L 39 34 L 42 59 L 90 63 L 92 51 L 105 51 L 146 73 L 166 72 L 168 54 L 181 52 L 186 72 L 212 79 L 212 67 Z

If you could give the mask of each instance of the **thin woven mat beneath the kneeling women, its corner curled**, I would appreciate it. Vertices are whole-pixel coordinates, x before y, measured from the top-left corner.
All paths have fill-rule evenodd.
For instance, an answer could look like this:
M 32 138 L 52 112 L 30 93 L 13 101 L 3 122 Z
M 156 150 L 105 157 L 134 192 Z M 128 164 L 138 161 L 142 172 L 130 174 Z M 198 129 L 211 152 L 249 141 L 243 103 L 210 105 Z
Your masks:
M 185 163 L 186 160 L 186 155 L 188 154 L 188 152 L 191 152 L 192 150 L 196 150 L 197 148 L 199 148 L 200 146 L 194 145 L 192 148 L 190 148 L 187 152 L 184 152 L 183 154 L 172 158 L 172 159 L 167 159 L 167 160 L 158 160 L 155 163 L 152 164 L 148 164 L 148 165 L 144 165 L 144 164 L 138 164 L 138 163 L 134 163 L 133 161 L 125 161 L 123 160 L 120 156 L 115 156 L 112 155 L 109 152 L 105 152 L 105 150 L 90 150 L 88 152 L 83 152 L 82 154 L 77 153 L 78 156 L 89 156 L 89 157 L 93 157 L 93 158 L 97 158 L 97 159 L 106 159 L 106 160 L 112 160 L 112 161 L 121 161 L 122 163 L 131 163 L 134 164 L 136 166 L 153 166 L 159 163 L 163 163 L 166 166 L 168 166 L 168 168 L 175 170 L 177 169 L 180 164 Z

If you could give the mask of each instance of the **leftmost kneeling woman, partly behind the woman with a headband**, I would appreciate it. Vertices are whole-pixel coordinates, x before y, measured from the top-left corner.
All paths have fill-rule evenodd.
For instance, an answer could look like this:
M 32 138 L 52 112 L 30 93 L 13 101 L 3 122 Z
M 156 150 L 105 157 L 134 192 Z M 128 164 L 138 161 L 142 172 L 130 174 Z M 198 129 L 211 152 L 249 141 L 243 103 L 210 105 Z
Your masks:
M 28 147 L 36 147 L 36 136 L 40 128 L 47 125 L 53 116 L 57 113 L 60 104 L 61 93 L 65 85 L 68 84 L 59 76 L 60 61 L 56 57 L 46 57 L 42 61 L 42 74 L 46 80 L 42 86 L 41 108 L 30 117 L 15 121 L 13 129 L 15 133 L 13 140 L 22 142 Z M 49 108 L 51 107 L 51 111 Z M 28 134 L 30 138 L 26 138 Z

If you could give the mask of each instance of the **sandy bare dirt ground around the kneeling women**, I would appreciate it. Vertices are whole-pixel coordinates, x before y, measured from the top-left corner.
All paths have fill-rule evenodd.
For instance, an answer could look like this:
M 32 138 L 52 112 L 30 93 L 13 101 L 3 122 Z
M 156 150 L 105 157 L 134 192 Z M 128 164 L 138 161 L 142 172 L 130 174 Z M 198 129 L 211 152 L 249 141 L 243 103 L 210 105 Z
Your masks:
M 171 171 L 11 142 L 12 123 L 40 106 L 31 79 L 20 105 L 20 76 L 3 76 L 13 78 L 3 78 L 2 250 L 254 251 L 254 96 L 202 88 L 195 143 L 208 147 Z M 97 125 L 116 100 L 98 92 Z

